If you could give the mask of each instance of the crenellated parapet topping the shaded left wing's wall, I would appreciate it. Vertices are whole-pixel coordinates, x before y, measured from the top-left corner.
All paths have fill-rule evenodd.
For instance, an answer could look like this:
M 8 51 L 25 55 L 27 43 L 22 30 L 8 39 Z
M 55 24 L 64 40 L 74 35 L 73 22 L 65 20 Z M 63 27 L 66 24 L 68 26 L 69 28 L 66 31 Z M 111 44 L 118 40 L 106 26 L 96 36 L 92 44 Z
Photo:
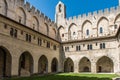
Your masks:
M 47 23 L 51 23 L 52 25 L 56 25 L 54 21 L 52 21 L 48 16 L 46 16 L 44 13 L 42 13 L 40 10 L 35 8 L 33 5 L 31 5 L 29 2 L 25 2 L 25 0 L 17 0 L 17 5 L 22 7 L 27 12 L 31 13 L 31 15 L 36 17 L 43 17 Z

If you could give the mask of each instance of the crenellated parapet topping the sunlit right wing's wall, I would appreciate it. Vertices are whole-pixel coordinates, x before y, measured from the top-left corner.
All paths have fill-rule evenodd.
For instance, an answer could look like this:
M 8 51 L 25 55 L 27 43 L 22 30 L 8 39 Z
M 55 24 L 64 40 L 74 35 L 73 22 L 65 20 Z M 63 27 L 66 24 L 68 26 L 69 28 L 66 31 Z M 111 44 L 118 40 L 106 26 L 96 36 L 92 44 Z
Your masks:
M 93 16 L 97 17 L 97 16 L 101 16 L 101 15 L 108 15 L 110 13 L 117 13 L 119 11 L 120 11 L 120 6 L 116 6 L 116 7 L 106 8 L 106 9 L 98 10 L 98 11 L 94 11 L 94 12 L 88 12 L 88 13 L 78 15 L 78 16 L 69 17 L 67 20 L 71 22 L 71 21 L 75 21 L 75 20 L 91 18 Z

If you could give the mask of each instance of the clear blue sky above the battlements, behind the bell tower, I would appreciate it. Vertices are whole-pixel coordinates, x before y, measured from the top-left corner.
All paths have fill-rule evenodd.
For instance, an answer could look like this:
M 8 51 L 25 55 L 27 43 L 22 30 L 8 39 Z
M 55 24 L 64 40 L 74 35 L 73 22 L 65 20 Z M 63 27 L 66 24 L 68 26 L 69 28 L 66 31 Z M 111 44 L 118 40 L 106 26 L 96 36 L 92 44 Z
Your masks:
M 55 7 L 59 1 L 66 5 L 67 18 L 117 6 L 118 0 L 26 0 L 54 20 Z

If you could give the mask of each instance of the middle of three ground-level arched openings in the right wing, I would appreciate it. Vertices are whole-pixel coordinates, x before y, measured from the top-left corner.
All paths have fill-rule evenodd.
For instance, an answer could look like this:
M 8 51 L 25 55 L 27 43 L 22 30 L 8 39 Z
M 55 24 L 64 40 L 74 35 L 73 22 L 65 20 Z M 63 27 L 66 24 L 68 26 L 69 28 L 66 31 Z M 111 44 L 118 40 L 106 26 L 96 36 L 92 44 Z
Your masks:
M 84 57 L 80 60 L 79 72 L 91 72 L 91 62 L 88 58 Z

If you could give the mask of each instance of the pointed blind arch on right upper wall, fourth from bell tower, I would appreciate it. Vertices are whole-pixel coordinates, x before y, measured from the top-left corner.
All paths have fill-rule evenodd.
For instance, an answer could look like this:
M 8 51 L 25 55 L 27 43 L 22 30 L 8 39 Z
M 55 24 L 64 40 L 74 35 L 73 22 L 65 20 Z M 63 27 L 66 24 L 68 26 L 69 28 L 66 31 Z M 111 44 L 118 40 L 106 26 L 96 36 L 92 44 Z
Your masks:
M 109 20 L 106 17 L 101 17 L 97 22 L 97 35 L 103 36 L 105 34 L 108 34 L 108 26 L 109 26 Z M 100 28 L 102 28 L 102 32 L 100 33 Z

